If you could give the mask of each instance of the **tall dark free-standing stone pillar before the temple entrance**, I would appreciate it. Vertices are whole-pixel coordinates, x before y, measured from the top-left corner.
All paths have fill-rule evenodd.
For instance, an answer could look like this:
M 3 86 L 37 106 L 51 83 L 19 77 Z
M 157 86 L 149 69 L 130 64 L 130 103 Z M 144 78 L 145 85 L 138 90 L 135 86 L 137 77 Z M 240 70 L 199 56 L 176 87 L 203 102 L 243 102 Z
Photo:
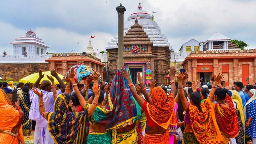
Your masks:
M 124 12 L 126 11 L 125 7 L 120 6 L 116 7 L 118 13 L 118 57 L 117 57 L 117 69 L 119 70 L 124 66 Z

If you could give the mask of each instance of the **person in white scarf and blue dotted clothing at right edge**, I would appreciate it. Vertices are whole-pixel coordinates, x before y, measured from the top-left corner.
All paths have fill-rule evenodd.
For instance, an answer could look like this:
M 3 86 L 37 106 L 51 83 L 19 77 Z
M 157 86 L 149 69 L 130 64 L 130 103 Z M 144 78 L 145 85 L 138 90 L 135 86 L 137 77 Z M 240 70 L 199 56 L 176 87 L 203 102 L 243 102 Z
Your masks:
M 244 106 L 245 134 L 252 138 L 252 143 L 256 144 L 256 90 L 248 92 L 249 100 Z

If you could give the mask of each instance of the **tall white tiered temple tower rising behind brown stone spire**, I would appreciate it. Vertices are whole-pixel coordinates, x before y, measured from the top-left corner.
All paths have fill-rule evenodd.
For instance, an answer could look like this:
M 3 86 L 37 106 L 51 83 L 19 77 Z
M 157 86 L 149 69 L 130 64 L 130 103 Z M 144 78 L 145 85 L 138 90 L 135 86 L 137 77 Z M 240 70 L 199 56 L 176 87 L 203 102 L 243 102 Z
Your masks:
M 146 10 L 142 10 L 142 6 L 139 4 L 138 10 L 130 14 L 127 18 L 127 21 L 124 22 L 124 35 L 130 29 L 132 25 L 135 24 L 135 19 L 137 18 L 138 24 L 142 26 L 142 29 L 150 38 L 150 41 L 153 42 L 153 46 L 170 46 L 168 39 L 164 34 L 161 33 L 161 29 L 158 24 L 154 21 L 154 16 L 150 16 Z M 106 49 L 118 48 L 118 35 L 114 36 L 111 39 L 111 42 L 108 42 Z M 171 48 L 171 47 L 170 47 Z

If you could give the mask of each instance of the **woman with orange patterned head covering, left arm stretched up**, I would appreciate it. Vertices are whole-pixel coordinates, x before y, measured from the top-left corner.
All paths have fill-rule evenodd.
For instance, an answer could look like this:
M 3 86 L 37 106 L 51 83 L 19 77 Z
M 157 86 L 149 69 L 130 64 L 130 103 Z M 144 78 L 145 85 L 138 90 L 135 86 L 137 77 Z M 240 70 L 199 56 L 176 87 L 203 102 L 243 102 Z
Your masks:
M 174 97 L 170 95 L 167 98 L 164 90 L 157 86 L 152 90 L 152 104 L 149 104 L 137 94 L 130 74 L 124 68 L 122 68 L 122 74 L 128 81 L 132 95 L 146 112 L 148 128 L 145 134 L 145 144 L 169 144 L 168 126 L 177 123 L 174 114 Z

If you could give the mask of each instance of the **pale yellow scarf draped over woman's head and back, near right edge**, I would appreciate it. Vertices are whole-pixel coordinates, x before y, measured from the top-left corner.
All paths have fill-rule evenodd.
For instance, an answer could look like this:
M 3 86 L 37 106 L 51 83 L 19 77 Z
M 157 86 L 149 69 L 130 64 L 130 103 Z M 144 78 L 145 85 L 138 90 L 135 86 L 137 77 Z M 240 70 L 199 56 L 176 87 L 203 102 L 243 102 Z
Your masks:
M 231 99 L 233 102 L 236 102 L 237 110 L 240 113 L 240 117 L 241 117 L 242 123 L 244 125 L 245 121 L 244 121 L 243 103 L 242 103 L 241 96 L 236 90 L 231 90 L 231 92 L 232 92 Z

